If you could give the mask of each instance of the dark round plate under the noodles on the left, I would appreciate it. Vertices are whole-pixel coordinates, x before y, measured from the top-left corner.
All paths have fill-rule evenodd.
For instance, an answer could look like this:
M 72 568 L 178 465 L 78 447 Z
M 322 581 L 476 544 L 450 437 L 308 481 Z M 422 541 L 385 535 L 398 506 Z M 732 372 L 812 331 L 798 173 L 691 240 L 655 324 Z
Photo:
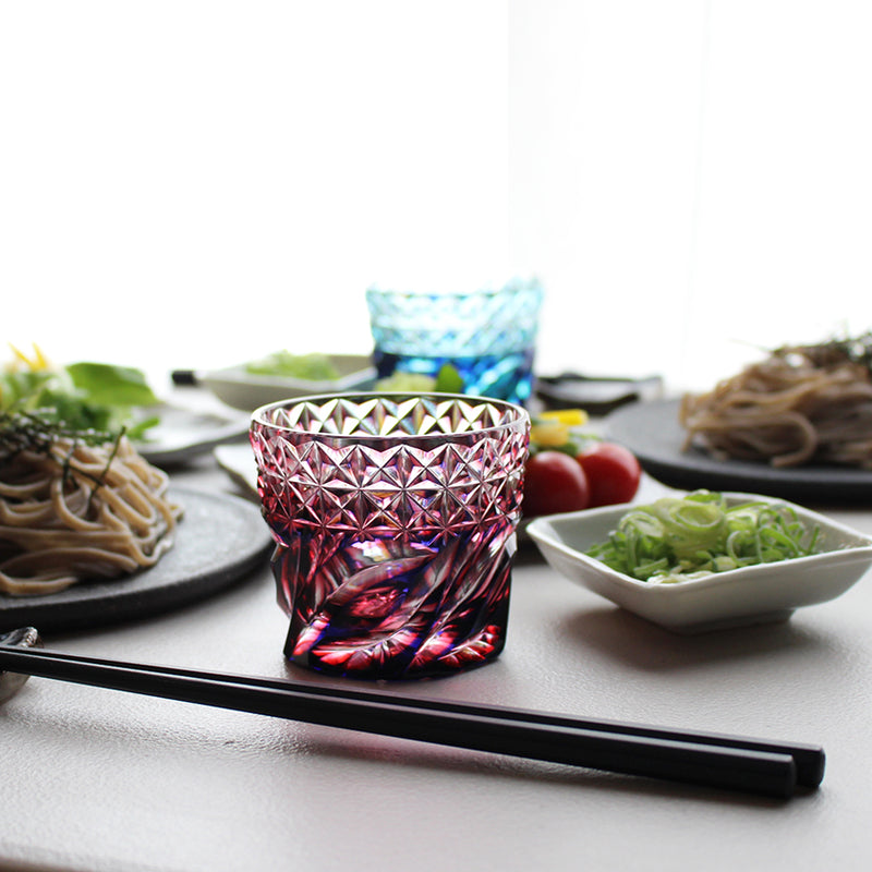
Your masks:
M 172 496 L 184 507 L 184 517 L 175 544 L 154 567 L 46 596 L 0 594 L 0 631 L 25 626 L 73 630 L 169 611 L 230 586 L 271 550 L 254 504 L 186 488 L 174 488 Z

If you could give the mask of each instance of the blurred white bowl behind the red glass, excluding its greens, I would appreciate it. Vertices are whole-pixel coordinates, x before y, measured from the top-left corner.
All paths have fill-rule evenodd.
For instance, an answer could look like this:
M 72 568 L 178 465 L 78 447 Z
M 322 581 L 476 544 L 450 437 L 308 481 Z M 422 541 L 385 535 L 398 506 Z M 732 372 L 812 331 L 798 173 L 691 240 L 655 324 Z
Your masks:
M 339 371 L 339 378 L 310 382 L 289 376 L 258 375 L 241 365 L 214 370 L 201 376 L 199 380 L 221 402 L 246 412 L 279 400 L 318 393 L 346 393 L 364 390 L 375 384 L 376 372 L 370 358 L 362 354 L 328 356 Z

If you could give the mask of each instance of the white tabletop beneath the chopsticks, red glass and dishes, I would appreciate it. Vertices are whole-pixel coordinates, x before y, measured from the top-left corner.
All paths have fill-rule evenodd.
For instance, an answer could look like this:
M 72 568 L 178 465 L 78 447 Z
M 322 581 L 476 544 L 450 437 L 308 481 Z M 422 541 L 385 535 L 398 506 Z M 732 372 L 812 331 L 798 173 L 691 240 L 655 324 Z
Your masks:
M 173 477 L 240 493 L 210 455 Z M 872 510 L 829 513 L 872 533 Z M 32 678 L 0 708 L 0 869 L 865 869 L 871 618 L 867 576 L 784 623 L 675 635 L 570 584 L 530 546 L 499 659 L 390 686 L 822 744 L 822 786 L 789 800 Z M 284 630 L 265 562 L 172 614 L 45 641 L 341 683 L 287 666 Z

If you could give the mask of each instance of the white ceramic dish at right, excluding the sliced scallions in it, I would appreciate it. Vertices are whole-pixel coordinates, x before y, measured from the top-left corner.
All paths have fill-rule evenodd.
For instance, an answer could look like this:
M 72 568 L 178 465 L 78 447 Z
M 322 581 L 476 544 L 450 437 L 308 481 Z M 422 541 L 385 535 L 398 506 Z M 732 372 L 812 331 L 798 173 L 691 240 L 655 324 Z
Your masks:
M 668 630 L 697 633 L 786 620 L 796 608 L 834 600 L 872 565 L 872 538 L 786 500 L 725 493 L 735 505 L 749 499 L 790 506 L 818 525 L 820 554 L 760 564 L 688 581 L 652 584 L 610 569 L 584 554 L 604 542 L 630 505 L 536 518 L 526 528 L 545 559 L 570 581 Z

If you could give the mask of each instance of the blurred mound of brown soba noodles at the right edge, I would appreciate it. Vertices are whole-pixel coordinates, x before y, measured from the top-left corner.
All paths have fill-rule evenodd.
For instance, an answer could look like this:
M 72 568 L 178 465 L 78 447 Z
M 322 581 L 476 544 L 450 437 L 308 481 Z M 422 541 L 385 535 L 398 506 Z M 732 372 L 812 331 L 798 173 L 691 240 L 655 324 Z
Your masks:
M 872 469 L 869 370 L 831 347 L 786 348 L 681 401 L 685 448 L 773 467 Z

